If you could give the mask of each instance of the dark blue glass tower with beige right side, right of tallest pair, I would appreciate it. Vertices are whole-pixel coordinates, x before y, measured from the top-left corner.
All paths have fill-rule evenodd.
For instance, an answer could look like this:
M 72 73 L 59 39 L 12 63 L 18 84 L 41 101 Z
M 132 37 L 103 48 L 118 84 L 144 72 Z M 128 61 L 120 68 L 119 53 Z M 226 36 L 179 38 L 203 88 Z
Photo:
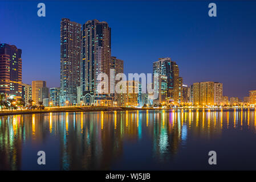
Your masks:
M 89 91 L 92 95 L 99 96 L 97 92 L 97 76 L 105 73 L 110 78 L 111 68 L 111 28 L 107 22 L 88 20 L 83 24 L 82 30 L 82 62 L 81 62 L 81 93 Z M 108 94 L 108 88 L 103 90 Z

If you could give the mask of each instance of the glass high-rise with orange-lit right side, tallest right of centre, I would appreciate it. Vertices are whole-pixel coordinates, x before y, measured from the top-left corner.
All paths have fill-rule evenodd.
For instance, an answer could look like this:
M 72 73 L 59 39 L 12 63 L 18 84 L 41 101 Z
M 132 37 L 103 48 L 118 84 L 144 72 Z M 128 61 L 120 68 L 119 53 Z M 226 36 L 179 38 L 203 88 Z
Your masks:
M 181 97 L 179 93 L 181 93 L 180 89 L 180 81 L 179 77 L 179 69 L 176 62 L 172 61 L 169 57 L 160 58 L 158 61 L 153 63 L 153 76 L 161 75 L 166 76 L 167 82 L 167 94 L 166 97 L 169 100 L 172 100 L 176 104 L 181 101 Z M 160 79 L 159 79 L 160 80 Z M 159 95 L 159 82 L 154 82 L 154 89 L 157 91 Z M 160 99 L 160 98 L 159 98 Z

